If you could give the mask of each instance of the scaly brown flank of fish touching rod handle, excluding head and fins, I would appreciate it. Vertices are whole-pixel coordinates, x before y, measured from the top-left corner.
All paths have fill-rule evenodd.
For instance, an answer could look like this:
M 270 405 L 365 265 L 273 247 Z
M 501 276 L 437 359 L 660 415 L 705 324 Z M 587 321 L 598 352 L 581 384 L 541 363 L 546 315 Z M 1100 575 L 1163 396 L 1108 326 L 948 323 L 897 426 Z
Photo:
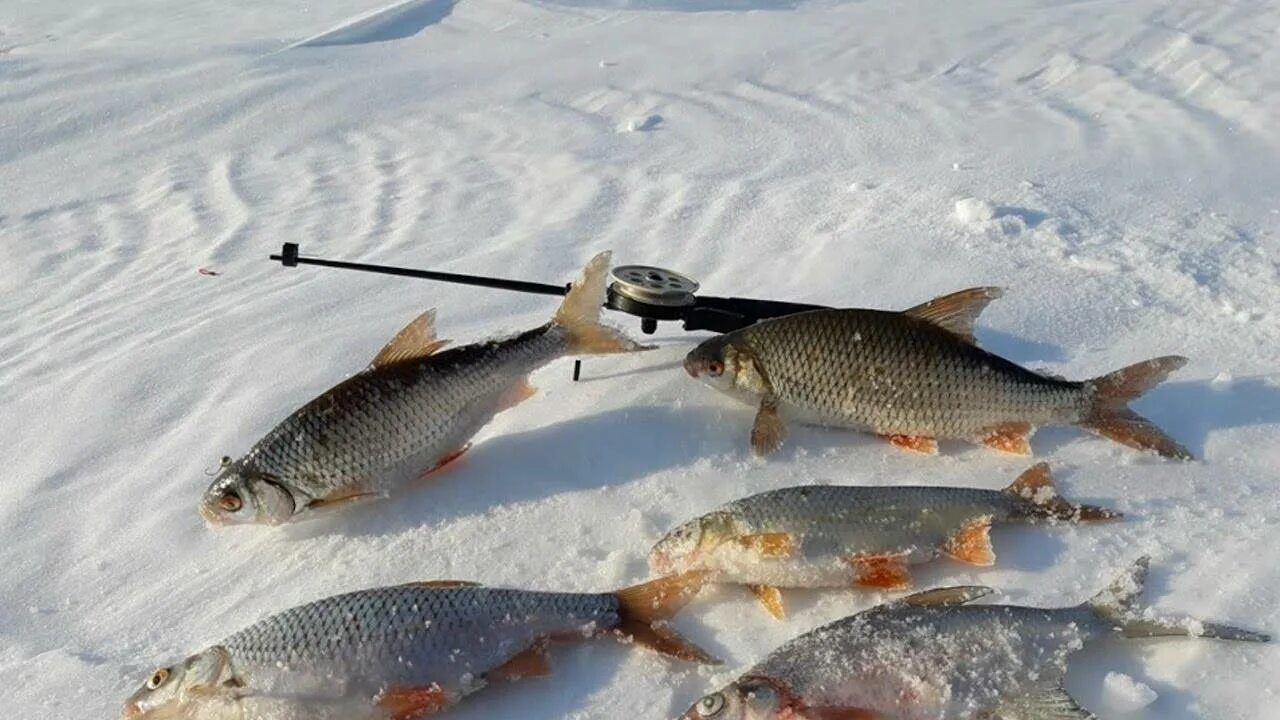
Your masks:
M 1084 383 L 1046 378 L 899 313 L 817 310 L 741 337 L 785 406 L 822 424 L 973 438 L 1010 418 L 1074 423 L 1089 407 Z

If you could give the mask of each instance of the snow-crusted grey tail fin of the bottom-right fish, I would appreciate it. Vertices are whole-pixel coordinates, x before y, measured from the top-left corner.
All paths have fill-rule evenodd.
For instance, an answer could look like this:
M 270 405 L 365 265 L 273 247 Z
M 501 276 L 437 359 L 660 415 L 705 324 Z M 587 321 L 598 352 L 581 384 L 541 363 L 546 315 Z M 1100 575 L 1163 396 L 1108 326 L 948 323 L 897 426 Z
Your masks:
M 1215 638 L 1222 641 L 1271 642 L 1271 635 L 1204 623 L 1190 618 L 1160 618 L 1138 602 L 1147 584 L 1151 557 L 1140 557 L 1124 575 L 1087 603 L 1098 618 L 1115 625 L 1126 638 Z

